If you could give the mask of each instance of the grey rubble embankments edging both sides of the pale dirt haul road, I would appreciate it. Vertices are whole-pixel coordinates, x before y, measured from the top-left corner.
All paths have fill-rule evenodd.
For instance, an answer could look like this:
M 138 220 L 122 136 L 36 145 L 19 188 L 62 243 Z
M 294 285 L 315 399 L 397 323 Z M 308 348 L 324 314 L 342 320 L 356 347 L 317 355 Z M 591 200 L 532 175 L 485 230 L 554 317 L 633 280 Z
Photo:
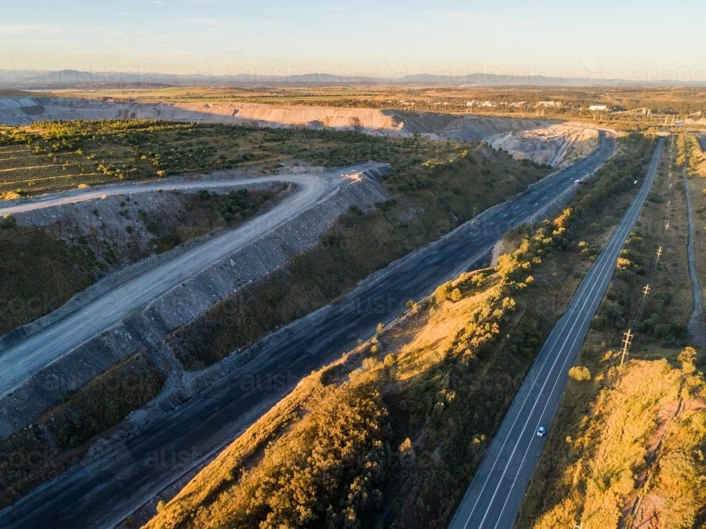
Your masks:
M 390 195 L 376 181 L 383 172 L 384 168 L 373 167 L 362 172 L 360 177 L 351 178 L 297 217 L 256 238 L 235 253 L 213 262 L 180 286 L 61 355 L 16 391 L 0 399 L 0 437 L 8 437 L 28 425 L 61 401 L 62 396 L 82 387 L 142 348 L 150 349 L 162 365 L 169 366 L 167 371 L 173 375 L 174 370 L 181 367 L 171 351 L 161 343 L 167 333 L 198 317 L 244 284 L 273 272 L 292 255 L 316 244 L 321 233 L 352 205 L 369 210 L 377 202 L 388 199 Z M 65 317 L 100 292 L 108 291 L 112 285 L 152 269 L 195 244 L 198 240 L 189 241 L 171 252 L 153 255 L 107 276 L 48 317 L 4 336 L 0 339 L 0 351 L 25 332 L 36 332 L 52 319 Z

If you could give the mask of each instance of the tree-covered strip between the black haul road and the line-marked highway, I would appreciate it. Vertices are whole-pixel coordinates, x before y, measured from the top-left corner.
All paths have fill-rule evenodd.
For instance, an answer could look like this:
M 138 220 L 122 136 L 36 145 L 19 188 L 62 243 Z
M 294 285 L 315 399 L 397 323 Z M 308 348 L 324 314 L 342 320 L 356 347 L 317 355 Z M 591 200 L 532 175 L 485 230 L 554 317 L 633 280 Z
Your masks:
M 445 527 L 651 154 L 620 140 L 570 208 L 304 379 L 145 527 Z

